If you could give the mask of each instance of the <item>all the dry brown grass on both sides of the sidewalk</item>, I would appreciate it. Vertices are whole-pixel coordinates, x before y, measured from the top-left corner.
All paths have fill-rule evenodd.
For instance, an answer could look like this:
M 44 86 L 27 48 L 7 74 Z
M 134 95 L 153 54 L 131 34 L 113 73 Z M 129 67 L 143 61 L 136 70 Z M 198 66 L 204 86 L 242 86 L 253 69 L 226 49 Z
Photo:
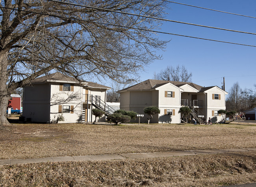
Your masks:
M 12 124 L 0 159 L 249 148 L 256 125 Z M 0 186 L 220 186 L 256 182 L 256 152 L 0 166 Z M 8 185 L 10 184 L 10 185 Z

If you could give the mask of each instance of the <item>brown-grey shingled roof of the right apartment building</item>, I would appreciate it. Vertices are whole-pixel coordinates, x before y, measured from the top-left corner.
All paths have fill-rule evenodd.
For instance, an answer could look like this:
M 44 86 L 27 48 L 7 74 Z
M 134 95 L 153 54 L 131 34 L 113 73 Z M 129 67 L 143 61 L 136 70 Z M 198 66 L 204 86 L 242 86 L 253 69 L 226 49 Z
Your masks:
M 188 84 L 190 86 L 192 86 L 195 89 L 200 90 L 202 88 L 202 86 L 194 84 L 192 82 L 176 82 L 176 81 L 168 81 L 168 80 L 152 80 L 152 79 L 148 79 L 145 80 L 141 83 L 135 84 L 133 86 L 130 86 L 128 88 L 122 89 L 120 91 L 132 91 L 132 90 L 150 90 L 150 89 L 154 89 L 157 87 L 160 87 L 162 85 L 165 85 L 167 83 L 171 83 L 176 85 L 177 87 L 180 87 L 182 85 Z

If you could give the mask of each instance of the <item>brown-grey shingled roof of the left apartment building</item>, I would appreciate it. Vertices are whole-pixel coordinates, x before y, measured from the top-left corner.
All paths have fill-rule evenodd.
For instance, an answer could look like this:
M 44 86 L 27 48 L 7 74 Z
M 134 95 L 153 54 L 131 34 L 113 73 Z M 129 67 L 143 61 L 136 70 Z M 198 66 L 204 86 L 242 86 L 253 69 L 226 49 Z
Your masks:
M 78 84 L 80 83 L 79 80 L 77 80 L 73 77 L 64 75 L 62 73 L 59 73 L 59 72 L 49 74 L 46 76 L 42 76 L 39 78 L 35 78 L 35 80 L 33 80 L 32 83 L 43 83 L 43 82 L 47 82 L 47 81 L 67 81 L 67 82 L 76 82 Z M 104 85 L 97 84 L 94 82 L 86 82 L 85 81 L 84 83 L 85 83 L 85 86 L 88 86 L 88 87 L 110 89 L 110 87 L 108 87 L 108 86 L 104 86 Z

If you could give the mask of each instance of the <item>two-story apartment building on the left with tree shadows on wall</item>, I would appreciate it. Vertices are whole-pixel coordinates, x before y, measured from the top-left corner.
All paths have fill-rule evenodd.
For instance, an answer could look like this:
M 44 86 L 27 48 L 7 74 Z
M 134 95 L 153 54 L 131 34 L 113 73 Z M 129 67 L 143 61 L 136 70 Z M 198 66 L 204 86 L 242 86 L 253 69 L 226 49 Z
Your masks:
M 23 116 L 32 122 L 52 122 L 58 116 L 64 123 L 91 122 L 93 107 L 106 107 L 107 86 L 93 82 L 79 82 L 61 73 L 36 78 L 24 86 Z M 96 105 L 97 106 L 96 106 Z

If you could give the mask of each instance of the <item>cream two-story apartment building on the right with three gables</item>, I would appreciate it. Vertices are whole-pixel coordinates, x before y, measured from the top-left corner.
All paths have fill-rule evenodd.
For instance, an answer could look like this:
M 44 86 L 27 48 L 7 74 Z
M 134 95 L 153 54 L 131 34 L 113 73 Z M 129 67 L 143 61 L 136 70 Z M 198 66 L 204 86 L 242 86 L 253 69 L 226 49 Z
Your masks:
M 174 82 L 148 79 L 139 84 L 118 91 L 120 109 L 144 114 L 144 107 L 155 106 L 160 114 L 155 114 L 151 123 L 180 123 L 180 107 L 189 106 L 194 114 L 221 121 L 217 111 L 226 109 L 226 92 L 217 86 L 202 87 L 191 82 Z M 147 121 L 146 114 L 141 120 Z M 194 116 L 194 117 L 197 117 Z

